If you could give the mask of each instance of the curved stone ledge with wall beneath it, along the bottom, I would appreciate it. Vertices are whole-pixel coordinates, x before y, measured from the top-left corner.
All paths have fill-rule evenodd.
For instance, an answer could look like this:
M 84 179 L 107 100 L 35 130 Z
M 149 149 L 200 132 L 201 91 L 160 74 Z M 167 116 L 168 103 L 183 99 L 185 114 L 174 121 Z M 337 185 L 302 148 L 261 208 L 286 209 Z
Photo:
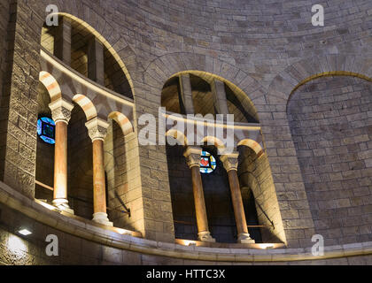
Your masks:
M 0 183 L 0 203 L 0 265 L 372 263 L 370 241 L 329 246 L 324 256 L 313 256 L 311 249 L 205 249 L 143 240 L 66 217 L 33 203 L 4 183 Z M 25 228 L 32 234 L 20 236 L 19 229 Z M 47 235 L 57 236 L 58 256 L 46 255 Z

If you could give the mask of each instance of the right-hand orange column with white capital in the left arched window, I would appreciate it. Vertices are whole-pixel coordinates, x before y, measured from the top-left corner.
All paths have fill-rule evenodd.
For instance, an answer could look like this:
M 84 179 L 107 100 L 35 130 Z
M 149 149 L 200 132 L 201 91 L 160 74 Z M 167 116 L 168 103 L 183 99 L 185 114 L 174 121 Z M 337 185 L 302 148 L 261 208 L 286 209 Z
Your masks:
M 95 118 L 89 120 L 85 126 L 93 142 L 93 221 L 112 226 L 107 218 L 105 193 L 104 141 L 109 124 L 103 119 Z

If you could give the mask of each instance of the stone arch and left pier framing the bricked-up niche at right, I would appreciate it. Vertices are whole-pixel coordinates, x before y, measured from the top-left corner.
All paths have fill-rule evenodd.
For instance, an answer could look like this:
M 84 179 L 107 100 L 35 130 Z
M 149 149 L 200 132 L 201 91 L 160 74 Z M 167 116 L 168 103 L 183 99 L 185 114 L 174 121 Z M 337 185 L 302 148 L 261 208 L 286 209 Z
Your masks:
M 308 80 L 329 75 L 353 75 L 369 80 L 371 74 L 372 60 L 359 55 L 310 57 L 279 73 L 269 85 L 264 100 L 255 103 L 259 113 L 266 111 L 267 107 L 275 109 L 270 116 L 261 117 L 260 124 L 273 171 L 276 195 L 283 212 L 284 231 L 287 235 L 291 234 L 288 241 L 290 247 L 311 246 L 311 236 L 308 235 L 314 234 L 315 230 L 286 117 L 288 99 L 296 88 Z M 293 194 L 296 197 L 288 199 Z M 293 236 L 294 233 L 296 236 Z

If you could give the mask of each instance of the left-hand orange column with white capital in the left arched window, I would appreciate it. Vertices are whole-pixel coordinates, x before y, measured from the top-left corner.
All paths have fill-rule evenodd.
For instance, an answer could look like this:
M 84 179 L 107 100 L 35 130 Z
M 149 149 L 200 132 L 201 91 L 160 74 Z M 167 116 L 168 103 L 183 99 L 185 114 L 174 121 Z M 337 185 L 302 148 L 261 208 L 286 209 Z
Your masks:
M 69 209 L 67 200 L 67 126 L 74 104 L 60 98 L 50 103 L 49 107 L 52 119 L 56 123 L 53 204 L 62 210 L 74 213 Z

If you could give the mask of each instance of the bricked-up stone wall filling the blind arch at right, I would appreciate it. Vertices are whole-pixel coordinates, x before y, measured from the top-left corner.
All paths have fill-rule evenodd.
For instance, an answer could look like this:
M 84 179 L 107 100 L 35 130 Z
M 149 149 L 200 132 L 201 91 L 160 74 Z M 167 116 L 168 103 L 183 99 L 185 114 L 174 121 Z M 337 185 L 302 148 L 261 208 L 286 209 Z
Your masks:
M 307 82 L 288 119 L 316 233 L 326 244 L 370 241 L 372 84 L 353 77 Z

